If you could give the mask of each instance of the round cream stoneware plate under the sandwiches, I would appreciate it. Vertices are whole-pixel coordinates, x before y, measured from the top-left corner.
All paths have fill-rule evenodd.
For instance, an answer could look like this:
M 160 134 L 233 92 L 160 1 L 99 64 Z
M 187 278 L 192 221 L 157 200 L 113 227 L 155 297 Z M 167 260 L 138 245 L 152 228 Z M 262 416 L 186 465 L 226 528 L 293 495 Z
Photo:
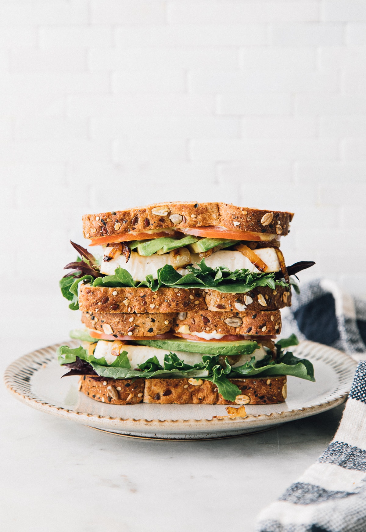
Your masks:
M 76 347 L 76 341 L 60 345 Z M 293 349 L 314 364 L 317 381 L 288 377 L 287 401 L 275 405 L 246 405 L 246 418 L 212 419 L 226 415 L 223 405 L 99 403 L 78 392 L 79 377 L 65 373 L 56 360 L 59 344 L 22 356 L 5 372 L 5 384 L 19 401 L 42 412 L 77 421 L 111 434 L 159 439 L 207 439 L 239 436 L 280 423 L 318 414 L 346 400 L 356 368 L 348 355 L 314 342 Z

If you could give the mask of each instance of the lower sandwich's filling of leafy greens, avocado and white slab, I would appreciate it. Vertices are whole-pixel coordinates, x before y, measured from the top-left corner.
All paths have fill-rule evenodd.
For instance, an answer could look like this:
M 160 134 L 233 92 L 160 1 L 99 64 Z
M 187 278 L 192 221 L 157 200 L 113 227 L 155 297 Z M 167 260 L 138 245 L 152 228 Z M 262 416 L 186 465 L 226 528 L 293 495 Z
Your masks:
M 184 342 L 190 349 L 178 350 Z M 113 379 L 133 378 L 202 378 L 214 383 L 219 393 L 227 400 L 234 401 L 240 390 L 230 382 L 232 378 L 294 375 L 307 380 L 314 380 L 312 364 L 305 359 L 296 358 L 291 352 L 284 352 L 284 347 L 297 343 L 293 335 L 276 344 L 276 355 L 272 350 L 252 344 L 251 352 L 242 354 L 214 354 L 212 345 L 207 355 L 197 352 L 196 344 L 205 342 L 188 342 L 188 340 L 147 340 L 126 344 L 115 340 L 108 342 L 83 342 L 82 346 L 70 348 L 61 346 L 57 350 L 59 362 L 69 368 L 66 375 L 90 375 Z M 138 344 L 138 345 L 136 345 Z M 230 344 L 227 342 L 227 344 Z M 232 348 L 240 351 L 239 343 L 231 343 Z M 221 347 L 221 346 L 219 346 Z

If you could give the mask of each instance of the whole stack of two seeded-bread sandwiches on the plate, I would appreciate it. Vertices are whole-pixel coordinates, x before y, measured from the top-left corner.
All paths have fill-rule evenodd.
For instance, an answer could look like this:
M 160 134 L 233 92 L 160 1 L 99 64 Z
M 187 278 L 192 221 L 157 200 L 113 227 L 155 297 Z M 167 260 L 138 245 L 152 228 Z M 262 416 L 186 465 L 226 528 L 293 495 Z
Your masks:
M 286 376 L 314 380 L 309 361 L 276 341 L 294 276 L 280 238 L 293 214 L 177 202 L 83 217 L 93 254 L 60 281 L 81 310 L 81 341 L 59 348 L 79 390 L 111 404 L 271 404 Z

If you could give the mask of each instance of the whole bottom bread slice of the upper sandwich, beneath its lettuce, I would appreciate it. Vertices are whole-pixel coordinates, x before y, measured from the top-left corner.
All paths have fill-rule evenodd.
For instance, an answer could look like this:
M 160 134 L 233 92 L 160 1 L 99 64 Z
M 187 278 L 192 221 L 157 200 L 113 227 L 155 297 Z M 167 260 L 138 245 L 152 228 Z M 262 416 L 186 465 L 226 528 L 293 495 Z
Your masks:
M 80 284 L 80 310 L 89 312 L 186 312 L 211 310 L 258 311 L 277 310 L 291 304 L 287 287 L 275 290 L 259 286 L 245 294 L 227 294 L 217 290 L 159 288 L 107 288 Z

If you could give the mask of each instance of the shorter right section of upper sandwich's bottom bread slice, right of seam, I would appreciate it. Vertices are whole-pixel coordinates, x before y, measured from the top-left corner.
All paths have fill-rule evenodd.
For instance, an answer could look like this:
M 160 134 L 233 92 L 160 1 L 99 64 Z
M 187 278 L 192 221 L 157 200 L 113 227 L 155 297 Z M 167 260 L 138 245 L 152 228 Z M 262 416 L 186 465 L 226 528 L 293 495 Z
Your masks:
M 207 290 L 207 309 L 217 311 L 272 311 L 291 305 L 291 291 L 286 286 L 258 286 L 245 294 L 227 294 L 217 290 Z

